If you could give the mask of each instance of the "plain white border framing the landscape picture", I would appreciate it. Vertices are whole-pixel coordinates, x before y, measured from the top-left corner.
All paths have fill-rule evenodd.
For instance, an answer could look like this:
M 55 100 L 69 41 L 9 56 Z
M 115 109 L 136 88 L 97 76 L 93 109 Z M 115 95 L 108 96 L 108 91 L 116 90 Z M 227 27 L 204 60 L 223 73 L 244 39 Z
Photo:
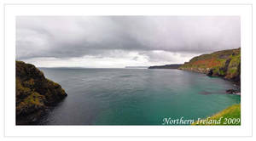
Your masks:
M 252 136 L 253 132 L 252 4 L 5 4 L 4 135 L 5 136 Z M 241 126 L 16 126 L 16 16 L 170 15 L 241 17 Z

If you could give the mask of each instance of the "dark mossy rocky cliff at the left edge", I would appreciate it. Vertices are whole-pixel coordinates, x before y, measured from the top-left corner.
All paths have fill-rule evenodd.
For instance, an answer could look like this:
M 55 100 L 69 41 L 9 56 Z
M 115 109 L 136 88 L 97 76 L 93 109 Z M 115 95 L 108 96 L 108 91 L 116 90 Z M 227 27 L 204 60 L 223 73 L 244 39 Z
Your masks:
M 44 77 L 34 65 L 16 61 L 16 123 L 36 121 L 49 105 L 67 96 L 61 86 Z

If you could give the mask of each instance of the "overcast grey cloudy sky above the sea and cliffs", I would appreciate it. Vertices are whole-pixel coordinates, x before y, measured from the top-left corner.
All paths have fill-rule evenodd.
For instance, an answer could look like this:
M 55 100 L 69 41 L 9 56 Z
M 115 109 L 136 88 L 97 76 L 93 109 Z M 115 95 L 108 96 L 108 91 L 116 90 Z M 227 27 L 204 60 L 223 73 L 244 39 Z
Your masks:
M 17 16 L 16 59 L 38 67 L 183 64 L 240 48 L 239 16 Z

